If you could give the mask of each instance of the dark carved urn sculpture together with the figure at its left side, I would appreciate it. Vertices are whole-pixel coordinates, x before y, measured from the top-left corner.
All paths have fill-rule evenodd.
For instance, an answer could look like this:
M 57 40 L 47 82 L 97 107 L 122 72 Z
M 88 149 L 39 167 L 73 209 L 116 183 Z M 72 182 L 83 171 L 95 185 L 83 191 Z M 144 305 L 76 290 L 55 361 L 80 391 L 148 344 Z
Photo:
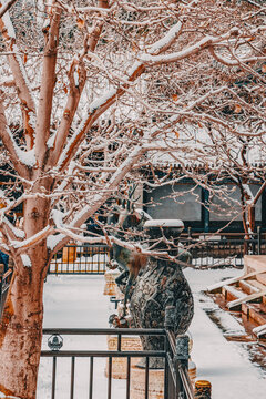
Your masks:
M 131 197 L 124 206 L 114 207 L 109 224 L 115 226 L 115 237 L 123 241 L 126 239 L 126 231 L 143 229 L 149 246 L 156 253 L 154 257 L 146 257 L 117 243 L 113 244 L 111 267 L 122 270 L 115 282 L 125 294 L 121 321 L 126 316 L 126 303 L 130 300 L 131 327 L 164 328 L 167 308 L 171 309 L 168 315 L 174 334 L 185 334 L 193 318 L 194 303 L 183 274 L 183 265 L 192 260 L 191 254 L 178 245 L 184 224 L 178 219 L 149 219 L 143 227 L 143 217 L 135 212 Z M 164 348 L 163 337 L 143 336 L 141 339 L 144 350 Z M 151 358 L 150 368 L 163 368 L 163 359 Z

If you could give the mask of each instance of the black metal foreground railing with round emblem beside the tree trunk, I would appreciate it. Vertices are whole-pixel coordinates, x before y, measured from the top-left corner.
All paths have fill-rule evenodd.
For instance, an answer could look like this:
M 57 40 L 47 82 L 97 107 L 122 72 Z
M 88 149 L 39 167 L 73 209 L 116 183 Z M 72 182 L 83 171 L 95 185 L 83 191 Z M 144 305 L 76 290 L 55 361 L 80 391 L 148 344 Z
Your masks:
M 43 335 L 51 335 L 51 338 L 54 336 L 60 336 L 61 344 L 63 342 L 62 336 L 68 335 L 76 335 L 76 336 L 84 336 L 84 335 L 109 335 L 109 336 L 117 336 L 117 346 L 116 349 L 112 350 L 101 350 L 101 349 L 93 349 L 93 350 L 61 350 L 62 347 L 59 346 L 58 348 L 52 348 L 49 345 L 51 350 L 42 350 L 41 357 L 44 358 L 53 358 L 53 370 L 52 370 L 52 398 L 54 398 L 54 387 L 55 387 L 55 367 L 57 367 L 57 358 L 71 358 L 72 365 L 74 367 L 75 358 L 84 358 L 90 357 L 91 362 L 93 362 L 93 358 L 108 358 L 109 359 L 109 367 L 111 367 L 111 371 L 109 370 L 108 378 L 109 381 L 111 380 L 112 376 L 112 358 L 127 358 L 127 378 L 130 379 L 130 358 L 146 358 L 146 367 L 145 367 L 145 392 L 147 393 L 147 385 L 149 385 L 149 359 L 150 358 L 164 358 L 165 359 L 165 398 L 172 399 L 168 397 L 170 386 L 168 386 L 168 378 L 173 383 L 175 390 L 175 397 L 180 395 L 180 392 L 184 392 L 185 399 L 194 399 L 193 387 L 190 381 L 188 370 L 187 370 L 187 361 L 183 361 L 178 359 L 178 354 L 176 349 L 176 337 L 172 330 L 165 328 L 44 328 Z M 122 350 L 121 346 L 121 337 L 122 336 L 164 336 L 165 337 L 165 346 L 161 350 Z M 52 340 L 50 341 L 52 342 Z M 48 342 L 49 344 L 49 342 Z M 73 369 L 74 370 L 74 369 Z M 167 371 L 168 370 L 168 371 Z M 93 370 L 91 371 L 93 374 Z M 73 391 L 74 387 L 74 371 L 71 374 L 71 392 Z M 92 379 L 91 379 L 92 380 Z M 111 383 L 111 382 L 110 382 Z M 127 381 L 127 386 L 129 386 Z M 90 398 L 92 399 L 92 388 L 90 388 Z M 72 392 L 73 393 L 73 392 Z M 71 398 L 73 395 L 71 393 Z M 177 396 L 176 396 L 177 395 Z M 129 398 L 129 393 L 126 398 Z M 147 397 L 147 396 L 146 396 Z M 111 395 L 109 396 L 111 398 Z

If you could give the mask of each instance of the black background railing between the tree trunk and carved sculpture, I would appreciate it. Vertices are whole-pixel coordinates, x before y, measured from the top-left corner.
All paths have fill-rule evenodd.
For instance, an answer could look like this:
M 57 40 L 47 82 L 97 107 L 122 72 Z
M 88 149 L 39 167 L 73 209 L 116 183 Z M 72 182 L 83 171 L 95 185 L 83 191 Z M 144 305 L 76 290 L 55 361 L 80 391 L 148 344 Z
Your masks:
M 106 245 L 68 245 L 52 258 L 49 274 L 104 274 L 109 262 Z

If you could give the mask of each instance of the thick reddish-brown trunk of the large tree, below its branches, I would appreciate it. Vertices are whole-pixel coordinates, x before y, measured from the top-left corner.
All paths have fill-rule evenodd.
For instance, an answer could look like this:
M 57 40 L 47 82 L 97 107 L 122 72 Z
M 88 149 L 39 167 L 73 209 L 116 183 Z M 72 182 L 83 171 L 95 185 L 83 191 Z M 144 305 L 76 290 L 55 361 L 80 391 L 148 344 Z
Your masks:
M 43 180 L 49 188 L 51 180 Z M 35 187 L 38 192 L 39 186 Z M 50 200 L 24 203 L 25 238 L 48 225 Z M 43 284 L 48 268 L 45 239 L 14 256 L 14 272 L 0 321 L 0 392 L 7 397 L 34 399 L 40 362 Z

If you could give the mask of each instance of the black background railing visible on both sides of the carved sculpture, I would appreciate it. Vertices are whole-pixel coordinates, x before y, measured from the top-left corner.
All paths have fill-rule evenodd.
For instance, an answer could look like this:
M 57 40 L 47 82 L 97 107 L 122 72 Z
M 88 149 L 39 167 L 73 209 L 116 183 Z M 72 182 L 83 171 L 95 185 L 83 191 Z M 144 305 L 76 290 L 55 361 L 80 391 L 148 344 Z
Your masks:
M 244 255 L 265 255 L 266 239 L 254 234 L 252 239 L 214 235 L 181 237 L 190 250 L 196 268 L 244 266 Z M 59 250 L 49 267 L 49 274 L 104 274 L 109 262 L 106 245 L 68 245 Z

